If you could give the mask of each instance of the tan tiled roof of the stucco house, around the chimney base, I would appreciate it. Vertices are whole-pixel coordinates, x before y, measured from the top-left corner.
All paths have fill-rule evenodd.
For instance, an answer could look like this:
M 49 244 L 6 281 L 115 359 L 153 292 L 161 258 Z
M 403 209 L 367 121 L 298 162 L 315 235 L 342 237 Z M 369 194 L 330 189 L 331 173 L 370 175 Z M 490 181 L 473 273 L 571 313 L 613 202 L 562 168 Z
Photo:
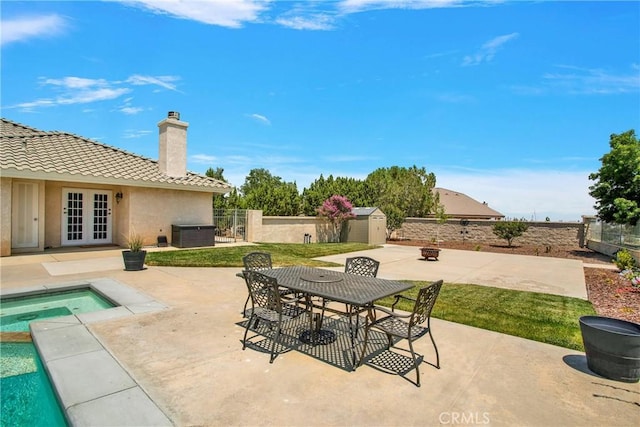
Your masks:
M 129 185 L 227 193 L 223 181 L 187 172 L 170 177 L 158 162 L 65 132 L 45 132 L 0 120 L 0 170 L 3 177 Z

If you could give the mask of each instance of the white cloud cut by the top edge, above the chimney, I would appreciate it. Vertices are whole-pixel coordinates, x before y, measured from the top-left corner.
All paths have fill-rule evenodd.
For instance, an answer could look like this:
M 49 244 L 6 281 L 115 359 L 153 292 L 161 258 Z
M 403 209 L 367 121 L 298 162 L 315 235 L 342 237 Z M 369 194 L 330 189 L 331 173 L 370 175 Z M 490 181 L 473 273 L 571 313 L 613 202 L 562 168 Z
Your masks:
M 240 28 L 245 22 L 256 22 L 268 9 L 268 0 L 136 0 L 123 1 L 155 13 L 191 19 L 204 24 Z

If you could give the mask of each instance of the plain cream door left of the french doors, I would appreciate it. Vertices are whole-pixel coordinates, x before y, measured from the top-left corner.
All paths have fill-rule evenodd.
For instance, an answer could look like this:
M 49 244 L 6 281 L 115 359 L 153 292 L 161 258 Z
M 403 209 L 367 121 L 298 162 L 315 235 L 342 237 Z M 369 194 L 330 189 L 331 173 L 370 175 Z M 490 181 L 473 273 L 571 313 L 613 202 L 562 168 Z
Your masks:
M 38 184 L 14 182 L 11 195 L 11 247 L 38 247 Z

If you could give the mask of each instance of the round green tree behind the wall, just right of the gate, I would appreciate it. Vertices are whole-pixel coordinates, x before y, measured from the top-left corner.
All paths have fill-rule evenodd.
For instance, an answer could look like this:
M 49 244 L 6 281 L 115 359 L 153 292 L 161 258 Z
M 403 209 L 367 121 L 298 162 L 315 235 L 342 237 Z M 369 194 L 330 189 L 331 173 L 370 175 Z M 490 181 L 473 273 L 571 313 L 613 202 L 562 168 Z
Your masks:
M 300 214 L 300 195 L 295 182 L 284 182 L 266 169 L 252 169 L 240 187 L 240 205 L 260 209 L 263 215 L 294 216 Z

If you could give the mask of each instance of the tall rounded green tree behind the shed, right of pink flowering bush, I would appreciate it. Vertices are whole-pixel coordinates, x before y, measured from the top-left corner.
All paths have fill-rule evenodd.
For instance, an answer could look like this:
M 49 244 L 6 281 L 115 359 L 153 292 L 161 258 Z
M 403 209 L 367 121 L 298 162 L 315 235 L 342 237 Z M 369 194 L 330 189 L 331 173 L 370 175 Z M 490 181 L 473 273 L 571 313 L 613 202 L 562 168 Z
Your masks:
M 387 216 L 387 237 L 402 227 L 407 217 L 426 217 L 434 211 L 435 184 L 433 173 L 415 165 L 379 168 L 367 176 L 366 188 L 372 194 L 372 206 Z

